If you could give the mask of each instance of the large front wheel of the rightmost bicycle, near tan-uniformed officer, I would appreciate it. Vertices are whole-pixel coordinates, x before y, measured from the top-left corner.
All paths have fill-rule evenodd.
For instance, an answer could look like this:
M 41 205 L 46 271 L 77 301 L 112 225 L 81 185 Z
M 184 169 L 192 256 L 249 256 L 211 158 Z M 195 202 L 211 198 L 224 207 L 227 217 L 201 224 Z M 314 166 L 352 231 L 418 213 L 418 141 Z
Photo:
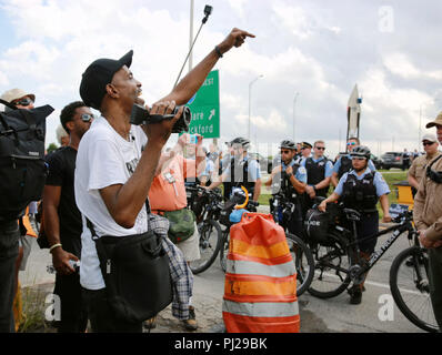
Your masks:
M 399 310 L 414 325 L 438 332 L 430 298 L 426 250 L 412 246 L 394 258 L 390 268 L 391 294 Z

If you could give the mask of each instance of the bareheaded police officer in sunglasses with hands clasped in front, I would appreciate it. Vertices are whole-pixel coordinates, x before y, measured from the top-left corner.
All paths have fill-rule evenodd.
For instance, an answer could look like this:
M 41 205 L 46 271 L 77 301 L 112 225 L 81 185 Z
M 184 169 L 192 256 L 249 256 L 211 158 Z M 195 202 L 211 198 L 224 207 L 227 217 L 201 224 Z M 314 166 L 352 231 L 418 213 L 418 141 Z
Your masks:
M 317 141 L 313 144 L 313 156 L 305 159 L 302 166 L 307 170 L 305 206 L 308 209 L 314 203 L 314 197 L 327 197 L 330 187 L 333 163 L 324 156 L 325 143 Z

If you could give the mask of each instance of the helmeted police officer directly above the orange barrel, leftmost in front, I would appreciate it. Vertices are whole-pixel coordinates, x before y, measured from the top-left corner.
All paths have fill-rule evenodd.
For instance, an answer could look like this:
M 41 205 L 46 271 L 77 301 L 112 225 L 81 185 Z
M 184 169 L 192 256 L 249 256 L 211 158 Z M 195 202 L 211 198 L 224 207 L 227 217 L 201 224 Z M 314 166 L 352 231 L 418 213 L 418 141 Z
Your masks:
M 230 182 L 232 190 L 244 186 L 252 194 L 253 201 L 258 202 L 261 194 L 261 169 L 258 161 L 251 159 L 248 154 L 250 141 L 239 136 L 231 141 L 230 145 L 233 149 L 230 165 L 225 168 L 221 179 L 212 182 L 208 189 L 212 190 L 223 182 Z

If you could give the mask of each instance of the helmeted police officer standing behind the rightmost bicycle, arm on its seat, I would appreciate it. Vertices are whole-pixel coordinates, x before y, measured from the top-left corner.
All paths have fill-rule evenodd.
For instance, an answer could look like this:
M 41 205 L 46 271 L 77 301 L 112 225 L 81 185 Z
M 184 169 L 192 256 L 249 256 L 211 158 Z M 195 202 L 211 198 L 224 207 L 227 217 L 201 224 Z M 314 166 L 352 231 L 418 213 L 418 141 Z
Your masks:
M 325 212 L 328 203 L 340 200 L 345 207 L 359 211 L 361 220 L 356 222 L 356 233 L 360 240 L 379 232 L 378 201 L 381 202 L 383 211 L 382 221 L 391 222 L 388 199 L 390 189 L 381 173 L 369 168 L 369 148 L 359 145 L 352 150 L 350 156 L 353 170 L 340 179 L 334 192 L 321 202 L 319 210 Z M 376 239 L 360 242 L 360 256 L 369 260 L 370 255 L 374 252 L 375 244 Z M 363 282 L 349 290 L 351 304 L 361 303 L 363 290 Z

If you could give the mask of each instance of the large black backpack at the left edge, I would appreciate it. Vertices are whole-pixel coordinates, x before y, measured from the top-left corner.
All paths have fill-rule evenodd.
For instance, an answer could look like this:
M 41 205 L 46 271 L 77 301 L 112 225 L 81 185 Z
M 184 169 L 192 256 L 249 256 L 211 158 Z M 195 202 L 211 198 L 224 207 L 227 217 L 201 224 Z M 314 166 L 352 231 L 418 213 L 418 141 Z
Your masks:
M 0 100 L 0 222 L 19 217 L 31 201 L 41 199 L 48 168 L 44 158 L 46 118 L 50 105 L 18 110 Z

